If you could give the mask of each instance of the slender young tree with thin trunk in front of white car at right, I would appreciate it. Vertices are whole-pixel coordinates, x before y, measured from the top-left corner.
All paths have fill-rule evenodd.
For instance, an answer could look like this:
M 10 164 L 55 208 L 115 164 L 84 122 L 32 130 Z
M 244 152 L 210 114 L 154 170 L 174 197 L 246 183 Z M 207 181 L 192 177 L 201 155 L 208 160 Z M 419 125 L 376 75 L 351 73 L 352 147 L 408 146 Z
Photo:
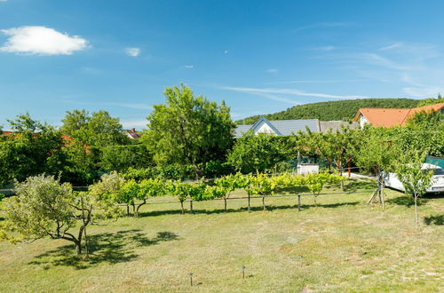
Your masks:
M 425 154 L 411 151 L 400 156 L 396 168 L 396 175 L 404 186 L 406 194 L 412 196 L 415 201 L 416 226 L 419 225 L 417 200 L 432 186 L 433 170 L 422 169 L 424 160 Z

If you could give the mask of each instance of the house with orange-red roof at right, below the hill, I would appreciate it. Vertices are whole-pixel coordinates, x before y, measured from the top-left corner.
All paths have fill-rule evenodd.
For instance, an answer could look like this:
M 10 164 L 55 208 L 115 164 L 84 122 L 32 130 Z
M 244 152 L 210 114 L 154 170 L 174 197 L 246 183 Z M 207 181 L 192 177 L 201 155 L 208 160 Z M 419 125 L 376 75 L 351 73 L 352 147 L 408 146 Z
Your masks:
M 410 117 L 421 111 L 426 113 L 440 111 L 441 114 L 444 114 L 444 103 L 410 109 L 360 108 L 353 121 L 359 122 L 361 127 L 364 127 L 365 124 L 371 124 L 374 127 L 403 126 Z

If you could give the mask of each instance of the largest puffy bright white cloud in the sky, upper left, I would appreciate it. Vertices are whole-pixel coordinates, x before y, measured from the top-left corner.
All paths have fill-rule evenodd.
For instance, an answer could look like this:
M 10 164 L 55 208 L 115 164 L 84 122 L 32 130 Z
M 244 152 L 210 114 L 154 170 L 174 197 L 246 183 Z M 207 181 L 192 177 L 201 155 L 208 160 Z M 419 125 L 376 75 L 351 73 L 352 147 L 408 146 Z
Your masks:
M 80 36 L 68 36 L 53 28 L 20 27 L 0 30 L 10 36 L 0 51 L 40 55 L 71 55 L 84 50 L 88 41 Z

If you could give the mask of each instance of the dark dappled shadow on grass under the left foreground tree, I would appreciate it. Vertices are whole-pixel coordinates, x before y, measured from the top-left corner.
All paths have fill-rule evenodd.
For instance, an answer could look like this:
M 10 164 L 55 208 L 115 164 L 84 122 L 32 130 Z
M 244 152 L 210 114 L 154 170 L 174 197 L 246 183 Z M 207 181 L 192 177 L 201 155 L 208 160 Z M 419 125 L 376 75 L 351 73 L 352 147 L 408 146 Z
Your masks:
M 100 263 L 124 263 L 139 257 L 135 253 L 135 249 L 138 247 L 178 239 L 178 235 L 172 232 L 159 232 L 156 237 L 148 238 L 139 229 L 124 230 L 114 234 L 95 234 L 88 236 L 90 252 L 88 258 L 75 255 L 75 246 L 68 244 L 46 251 L 37 256 L 36 260 L 29 262 L 29 265 L 44 265 L 44 269 L 48 269 L 49 265 L 66 265 L 76 269 L 85 269 Z

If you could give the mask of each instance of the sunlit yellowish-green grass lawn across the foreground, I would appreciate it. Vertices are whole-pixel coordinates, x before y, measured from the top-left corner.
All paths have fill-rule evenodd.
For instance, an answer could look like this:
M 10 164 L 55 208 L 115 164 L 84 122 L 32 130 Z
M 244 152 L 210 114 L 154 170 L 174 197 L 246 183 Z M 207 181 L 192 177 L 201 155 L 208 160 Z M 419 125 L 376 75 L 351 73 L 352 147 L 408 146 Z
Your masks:
M 369 193 L 319 196 L 317 207 L 303 197 L 300 212 L 290 197 L 266 199 L 266 211 L 254 199 L 250 213 L 246 200 L 227 213 L 194 202 L 193 215 L 178 202 L 147 205 L 89 227 L 89 260 L 62 240 L 0 242 L 0 291 L 443 291 L 444 198 L 423 200 L 416 228 L 412 202 L 385 191 L 385 210 L 364 205 Z

